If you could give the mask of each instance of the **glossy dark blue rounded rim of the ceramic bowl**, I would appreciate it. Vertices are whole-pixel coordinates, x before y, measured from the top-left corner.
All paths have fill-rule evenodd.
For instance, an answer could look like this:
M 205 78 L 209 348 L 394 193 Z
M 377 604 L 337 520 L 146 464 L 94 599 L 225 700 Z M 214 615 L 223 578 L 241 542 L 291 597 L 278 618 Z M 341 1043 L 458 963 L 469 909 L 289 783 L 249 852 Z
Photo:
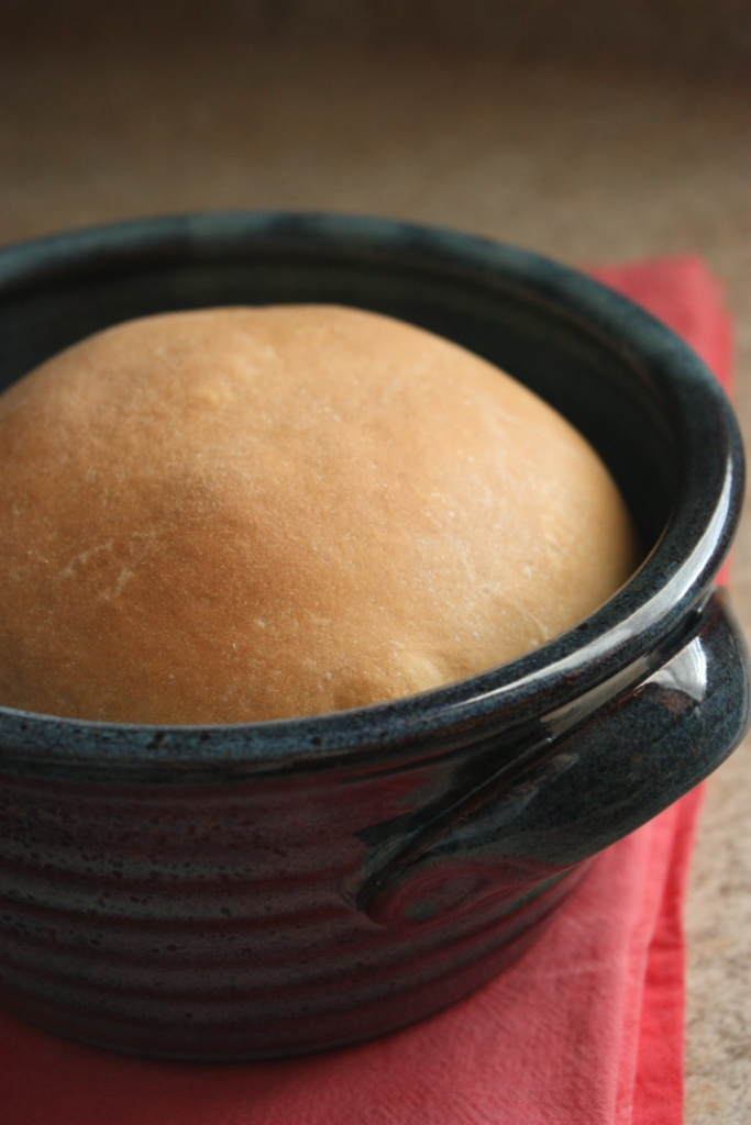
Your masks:
M 698 356 L 628 298 L 531 251 L 438 227 L 350 215 L 223 212 L 88 227 L 0 251 L 0 300 L 75 276 L 166 261 L 297 254 L 464 280 L 596 336 L 649 381 L 679 453 L 672 514 L 640 569 L 599 610 L 547 644 L 479 675 L 366 708 L 216 726 L 105 723 L 0 706 L 0 759 L 189 772 L 381 763 L 446 747 L 565 705 L 624 669 L 644 670 L 706 597 L 743 500 L 739 426 Z M 636 676 L 636 672 L 634 673 Z

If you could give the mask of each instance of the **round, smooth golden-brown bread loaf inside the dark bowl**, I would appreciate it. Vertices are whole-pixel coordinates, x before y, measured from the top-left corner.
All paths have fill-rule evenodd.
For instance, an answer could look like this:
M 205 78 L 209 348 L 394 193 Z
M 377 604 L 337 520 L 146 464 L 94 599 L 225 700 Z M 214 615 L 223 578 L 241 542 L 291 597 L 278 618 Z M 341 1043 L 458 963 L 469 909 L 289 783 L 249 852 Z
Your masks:
M 587 442 L 370 313 L 133 321 L 0 397 L 0 703 L 213 723 L 359 706 L 543 644 L 635 566 Z

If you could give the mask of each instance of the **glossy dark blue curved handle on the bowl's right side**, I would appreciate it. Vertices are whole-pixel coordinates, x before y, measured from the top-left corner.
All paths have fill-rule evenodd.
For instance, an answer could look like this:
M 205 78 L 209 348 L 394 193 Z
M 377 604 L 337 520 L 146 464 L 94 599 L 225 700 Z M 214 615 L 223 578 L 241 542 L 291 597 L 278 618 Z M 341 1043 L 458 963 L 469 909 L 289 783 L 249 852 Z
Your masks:
M 515 909 L 682 796 L 749 724 L 749 657 L 716 591 L 669 659 L 555 735 L 513 778 L 461 801 L 426 838 L 370 867 L 356 901 L 379 925 L 426 925 L 485 899 Z

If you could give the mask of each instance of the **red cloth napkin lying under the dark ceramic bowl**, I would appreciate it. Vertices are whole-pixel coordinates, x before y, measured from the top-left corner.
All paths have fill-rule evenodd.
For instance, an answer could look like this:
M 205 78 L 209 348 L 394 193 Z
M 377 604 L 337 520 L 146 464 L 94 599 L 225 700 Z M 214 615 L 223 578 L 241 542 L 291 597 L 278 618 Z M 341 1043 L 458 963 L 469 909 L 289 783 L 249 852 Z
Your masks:
M 730 323 L 700 260 L 593 272 L 682 332 L 727 385 Z M 0 1125 L 679 1125 L 681 908 L 700 796 L 604 853 L 501 976 L 372 1043 L 158 1063 L 0 1015 Z

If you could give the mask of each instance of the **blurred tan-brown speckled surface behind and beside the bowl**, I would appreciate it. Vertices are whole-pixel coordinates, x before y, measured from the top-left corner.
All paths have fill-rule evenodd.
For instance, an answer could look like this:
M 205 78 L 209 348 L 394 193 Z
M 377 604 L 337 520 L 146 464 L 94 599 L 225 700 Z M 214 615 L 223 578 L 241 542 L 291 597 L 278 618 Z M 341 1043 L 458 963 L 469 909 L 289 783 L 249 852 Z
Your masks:
M 0 243 L 260 207 L 700 254 L 751 446 L 750 94 L 751 0 L 0 0 Z M 694 866 L 688 1125 L 751 1119 L 750 778 L 746 745 Z

